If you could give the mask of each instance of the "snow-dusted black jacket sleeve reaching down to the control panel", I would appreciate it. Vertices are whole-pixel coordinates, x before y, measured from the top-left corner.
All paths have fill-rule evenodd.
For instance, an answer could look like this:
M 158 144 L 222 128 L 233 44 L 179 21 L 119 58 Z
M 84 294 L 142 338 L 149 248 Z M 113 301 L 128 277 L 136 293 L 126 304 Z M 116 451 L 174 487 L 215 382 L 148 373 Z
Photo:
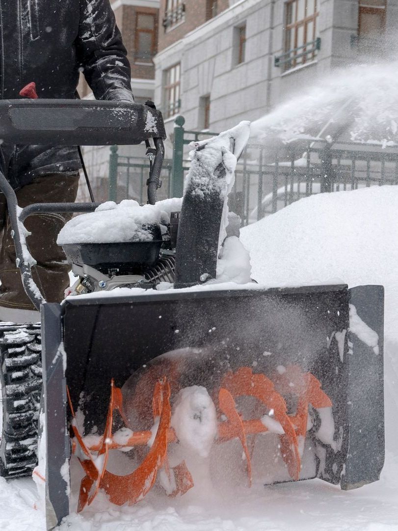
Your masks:
M 134 101 L 126 48 L 109 0 L 80 0 L 77 59 L 94 96 Z

